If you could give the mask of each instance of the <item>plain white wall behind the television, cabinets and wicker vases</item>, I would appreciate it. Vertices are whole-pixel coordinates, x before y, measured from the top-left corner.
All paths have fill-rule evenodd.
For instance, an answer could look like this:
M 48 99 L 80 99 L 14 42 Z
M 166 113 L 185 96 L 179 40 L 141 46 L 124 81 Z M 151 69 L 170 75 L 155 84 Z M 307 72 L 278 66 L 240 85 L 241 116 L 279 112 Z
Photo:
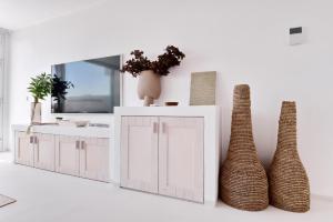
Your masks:
M 223 154 L 230 135 L 232 90 L 249 83 L 253 129 L 268 165 L 276 145 L 282 100 L 295 100 L 299 151 L 313 193 L 333 196 L 333 14 L 330 0 L 141 0 L 90 10 L 14 31 L 11 39 L 11 123 L 29 121 L 27 84 L 52 63 L 142 49 L 149 57 L 167 44 L 186 54 L 163 78 L 160 101 L 186 105 L 192 71 L 216 70 L 222 105 Z M 304 26 L 307 42 L 287 44 L 289 28 Z M 125 75 L 124 104 L 140 105 L 137 80 Z M 49 110 L 44 102 L 44 111 Z M 44 119 L 51 115 L 46 112 Z M 97 117 L 109 121 L 111 117 Z

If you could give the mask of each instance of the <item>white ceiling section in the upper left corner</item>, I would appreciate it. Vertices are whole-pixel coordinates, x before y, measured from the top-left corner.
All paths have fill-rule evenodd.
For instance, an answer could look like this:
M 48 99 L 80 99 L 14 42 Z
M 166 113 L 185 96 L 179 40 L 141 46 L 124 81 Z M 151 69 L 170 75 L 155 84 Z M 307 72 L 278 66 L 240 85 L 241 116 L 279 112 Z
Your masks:
M 0 28 L 17 30 L 87 9 L 103 0 L 0 0 Z

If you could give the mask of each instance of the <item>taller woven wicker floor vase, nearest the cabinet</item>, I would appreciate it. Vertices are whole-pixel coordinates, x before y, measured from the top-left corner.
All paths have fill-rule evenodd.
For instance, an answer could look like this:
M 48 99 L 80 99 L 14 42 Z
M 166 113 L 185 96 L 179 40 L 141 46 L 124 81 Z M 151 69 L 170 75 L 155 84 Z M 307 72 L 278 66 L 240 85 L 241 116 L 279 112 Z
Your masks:
M 231 138 L 221 170 L 220 195 L 226 204 L 241 210 L 260 211 L 269 205 L 268 176 L 254 147 L 246 84 L 234 88 Z

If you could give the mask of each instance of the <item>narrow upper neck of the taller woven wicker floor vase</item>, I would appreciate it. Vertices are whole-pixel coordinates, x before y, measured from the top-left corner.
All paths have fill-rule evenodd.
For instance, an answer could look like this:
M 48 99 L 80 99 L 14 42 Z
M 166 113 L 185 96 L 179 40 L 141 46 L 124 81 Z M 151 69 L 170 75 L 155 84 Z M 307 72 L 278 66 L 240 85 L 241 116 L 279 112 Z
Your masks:
M 248 84 L 235 85 L 233 93 L 230 150 L 255 150 L 252 134 L 250 87 Z

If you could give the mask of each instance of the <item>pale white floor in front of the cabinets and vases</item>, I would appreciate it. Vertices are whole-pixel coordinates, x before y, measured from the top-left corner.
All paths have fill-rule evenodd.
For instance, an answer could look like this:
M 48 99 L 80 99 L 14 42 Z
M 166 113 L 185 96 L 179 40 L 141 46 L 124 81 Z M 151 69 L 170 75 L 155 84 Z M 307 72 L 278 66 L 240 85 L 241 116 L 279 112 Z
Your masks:
M 333 220 L 333 201 L 312 198 L 307 213 L 273 206 L 262 212 L 234 210 L 223 203 L 206 206 L 112 184 L 16 165 L 0 154 L 0 193 L 18 202 L 0 208 L 0 222 L 323 222 Z

